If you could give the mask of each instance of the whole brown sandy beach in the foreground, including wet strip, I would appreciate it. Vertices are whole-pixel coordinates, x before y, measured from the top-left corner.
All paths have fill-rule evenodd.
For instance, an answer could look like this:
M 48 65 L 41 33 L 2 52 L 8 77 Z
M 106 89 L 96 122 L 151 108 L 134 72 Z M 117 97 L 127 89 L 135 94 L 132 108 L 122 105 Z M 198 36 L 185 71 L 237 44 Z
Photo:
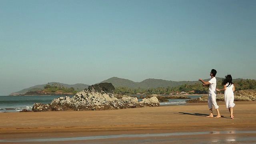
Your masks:
M 256 102 L 235 103 L 234 119 L 230 119 L 224 102 L 218 102 L 221 118 L 206 118 L 206 103 L 0 113 L 0 143 L 256 143 Z

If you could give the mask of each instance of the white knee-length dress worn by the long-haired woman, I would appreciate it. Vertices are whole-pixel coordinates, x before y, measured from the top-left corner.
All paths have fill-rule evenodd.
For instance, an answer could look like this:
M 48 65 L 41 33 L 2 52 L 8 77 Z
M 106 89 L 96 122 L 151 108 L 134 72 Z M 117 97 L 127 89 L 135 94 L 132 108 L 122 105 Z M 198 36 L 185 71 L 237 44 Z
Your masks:
M 234 85 L 231 84 L 228 86 L 228 83 L 226 84 L 226 90 L 224 92 L 224 100 L 226 103 L 226 108 L 233 108 L 236 104 L 234 103 L 234 92 L 233 92 Z

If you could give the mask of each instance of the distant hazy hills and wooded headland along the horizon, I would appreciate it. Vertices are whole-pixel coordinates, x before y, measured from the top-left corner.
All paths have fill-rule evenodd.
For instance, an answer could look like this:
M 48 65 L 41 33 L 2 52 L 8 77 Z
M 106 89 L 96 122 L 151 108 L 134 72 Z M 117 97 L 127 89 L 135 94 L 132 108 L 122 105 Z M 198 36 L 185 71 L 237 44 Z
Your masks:
M 222 86 L 222 78 L 217 79 L 217 87 Z M 208 81 L 209 79 L 205 79 Z M 244 80 L 241 78 L 234 79 L 236 90 L 246 90 L 256 88 L 256 80 Z M 206 88 L 202 88 L 201 84 L 196 81 L 171 81 L 162 79 L 149 78 L 142 82 L 134 82 L 124 78 L 112 77 L 104 80 L 100 83 L 108 82 L 112 83 L 116 88 L 117 94 L 204 94 L 207 93 Z M 97 83 L 99 84 L 99 83 Z M 41 84 L 25 88 L 18 92 L 10 94 L 10 96 L 33 96 L 33 95 L 74 95 L 77 92 L 88 88 L 88 84 L 63 84 L 59 82 L 49 82 L 47 84 Z

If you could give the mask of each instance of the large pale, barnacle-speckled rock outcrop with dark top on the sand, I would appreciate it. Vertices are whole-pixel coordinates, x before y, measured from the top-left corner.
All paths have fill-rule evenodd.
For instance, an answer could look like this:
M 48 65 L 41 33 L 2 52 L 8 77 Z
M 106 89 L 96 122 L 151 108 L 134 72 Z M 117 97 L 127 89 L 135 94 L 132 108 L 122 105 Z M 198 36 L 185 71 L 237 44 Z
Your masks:
M 61 111 L 61 110 L 114 110 L 123 108 L 138 108 L 160 106 L 156 97 L 144 98 L 138 102 L 137 98 L 123 97 L 117 99 L 111 83 L 100 83 L 89 86 L 88 89 L 69 96 L 52 100 L 50 104 L 34 104 L 32 111 Z

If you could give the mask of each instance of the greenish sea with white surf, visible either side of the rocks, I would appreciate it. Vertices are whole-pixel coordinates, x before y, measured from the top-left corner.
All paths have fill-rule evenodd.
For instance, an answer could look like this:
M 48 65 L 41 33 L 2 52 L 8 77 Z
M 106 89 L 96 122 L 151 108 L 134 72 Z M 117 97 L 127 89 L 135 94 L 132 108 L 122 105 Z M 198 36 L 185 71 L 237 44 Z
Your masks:
M 0 112 L 19 112 L 23 109 L 32 110 L 35 103 L 50 104 L 54 98 L 61 96 L 0 96 Z M 69 96 L 72 98 L 73 96 Z M 198 98 L 200 96 L 188 96 Z M 142 99 L 138 98 L 138 101 Z M 189 99 L 168 99 L 169 102 L 160 102 L 160 106 L 182 105 Z

